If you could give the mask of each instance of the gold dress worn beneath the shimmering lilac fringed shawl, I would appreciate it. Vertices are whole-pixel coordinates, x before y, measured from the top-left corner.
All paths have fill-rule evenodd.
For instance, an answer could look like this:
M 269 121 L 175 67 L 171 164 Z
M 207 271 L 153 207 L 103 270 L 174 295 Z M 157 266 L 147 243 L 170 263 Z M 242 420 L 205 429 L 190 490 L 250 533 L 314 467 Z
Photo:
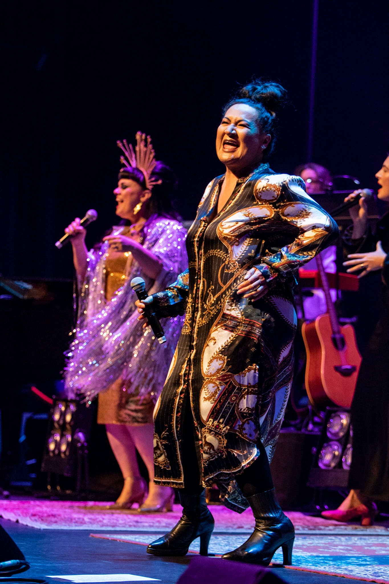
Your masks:
M 130 227 L 125 227 L 122 235 L 139 241 L 138 232 L 134 228 L 130 231 Z M 121 251 L 121 246 L 117 244 L 109 248 L 106 259 L 105 298 L 107 302 L 112 300 L 124 282 L 128 280 L 127 274 L 131 264 L 131 252 Z M 137 392 L 131 394 L 126 390 L 127 385 L 119 378 L 106 391 L 99 394 L 98 424 L 135 426 L 153 423 L 154 403 L 152 399 L 148 395 L 141 398 Z

